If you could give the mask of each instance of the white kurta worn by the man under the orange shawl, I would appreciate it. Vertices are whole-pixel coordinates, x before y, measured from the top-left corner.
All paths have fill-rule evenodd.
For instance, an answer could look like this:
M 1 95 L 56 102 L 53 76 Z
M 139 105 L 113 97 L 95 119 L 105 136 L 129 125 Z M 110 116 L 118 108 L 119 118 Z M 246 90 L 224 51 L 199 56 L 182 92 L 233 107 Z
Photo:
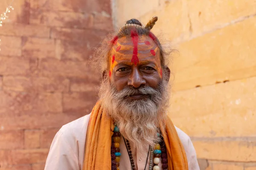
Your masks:
M 89 118 L 90 114 L 61 127 L 52 141 L 44 170 L 83 169 L 84 148 Z M 186 151 L 189 170 L 200 170 L 195 149 L 189 136 L 179 128 L 175 128 Z M 130 159 L 123 140 L 120 140 L 120 150 L 122 154 L 120 157 L 120 170 L 131 170 Z M 146 165 L 146 170 L 148 170 L 149 158 L 146 164 L 148 146 L 145 146 L 144 153 L 139 153 L 131 144 L 131 151 L 136 169 L 144 170 Z M 161 167 L 161 164 L 159 166 Z

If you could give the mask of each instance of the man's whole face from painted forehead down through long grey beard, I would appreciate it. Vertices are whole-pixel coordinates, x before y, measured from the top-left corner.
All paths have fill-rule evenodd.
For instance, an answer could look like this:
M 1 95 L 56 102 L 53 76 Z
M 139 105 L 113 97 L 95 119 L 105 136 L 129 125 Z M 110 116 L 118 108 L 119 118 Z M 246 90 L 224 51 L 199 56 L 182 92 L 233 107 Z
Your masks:
M 159 139 L 156 134 L 166 119 L 169 78 L 166 70 L 162 76 L 160 51 L 154 41 L 132 35 L 114 42 L 109 79 L 103 79 L 99 96 L 122 136 L 142 150 L 143 144 L 154 146 Z

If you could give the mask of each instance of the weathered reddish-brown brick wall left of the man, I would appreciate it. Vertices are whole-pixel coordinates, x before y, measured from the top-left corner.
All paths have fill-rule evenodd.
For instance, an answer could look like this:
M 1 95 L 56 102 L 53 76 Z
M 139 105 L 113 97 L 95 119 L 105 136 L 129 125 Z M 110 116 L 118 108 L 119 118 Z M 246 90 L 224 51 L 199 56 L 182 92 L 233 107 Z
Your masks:
M 11 0 L 1 0 L 0 13 Z M 87 113 L 88 59 L 112 30 L 110 0 L 15 0 L 0 27 L 0 169 L 43 170 L 58 129 Z

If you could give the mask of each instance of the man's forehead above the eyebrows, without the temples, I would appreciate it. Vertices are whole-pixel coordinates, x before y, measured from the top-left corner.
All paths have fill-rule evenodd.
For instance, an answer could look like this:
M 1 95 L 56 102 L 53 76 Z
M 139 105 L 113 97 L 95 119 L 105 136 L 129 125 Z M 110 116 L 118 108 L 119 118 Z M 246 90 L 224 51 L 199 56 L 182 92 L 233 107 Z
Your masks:
M 132 55 L 137 55 L 142 61 L 160 57 L 160 51 L 150 37 L 143 35 L 137 38 L 136 43 L 132 37 L 119 38 L 111 49 L 111 55 L 115 55 L 116 59 L 130 61 Z

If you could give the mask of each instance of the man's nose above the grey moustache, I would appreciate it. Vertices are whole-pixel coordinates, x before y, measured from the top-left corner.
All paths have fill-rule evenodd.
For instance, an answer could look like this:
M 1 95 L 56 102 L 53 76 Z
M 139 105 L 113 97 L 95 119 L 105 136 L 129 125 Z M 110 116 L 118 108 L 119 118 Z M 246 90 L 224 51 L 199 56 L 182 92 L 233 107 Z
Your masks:
M 128 80 L 128 85 L 132 85 L 134 88 L 139 88 L 142 85 L 145 85 L 146 81 L 143 78 L 143 75 L 137 68 L 134 68 L 131 72 L 131 75 Z

